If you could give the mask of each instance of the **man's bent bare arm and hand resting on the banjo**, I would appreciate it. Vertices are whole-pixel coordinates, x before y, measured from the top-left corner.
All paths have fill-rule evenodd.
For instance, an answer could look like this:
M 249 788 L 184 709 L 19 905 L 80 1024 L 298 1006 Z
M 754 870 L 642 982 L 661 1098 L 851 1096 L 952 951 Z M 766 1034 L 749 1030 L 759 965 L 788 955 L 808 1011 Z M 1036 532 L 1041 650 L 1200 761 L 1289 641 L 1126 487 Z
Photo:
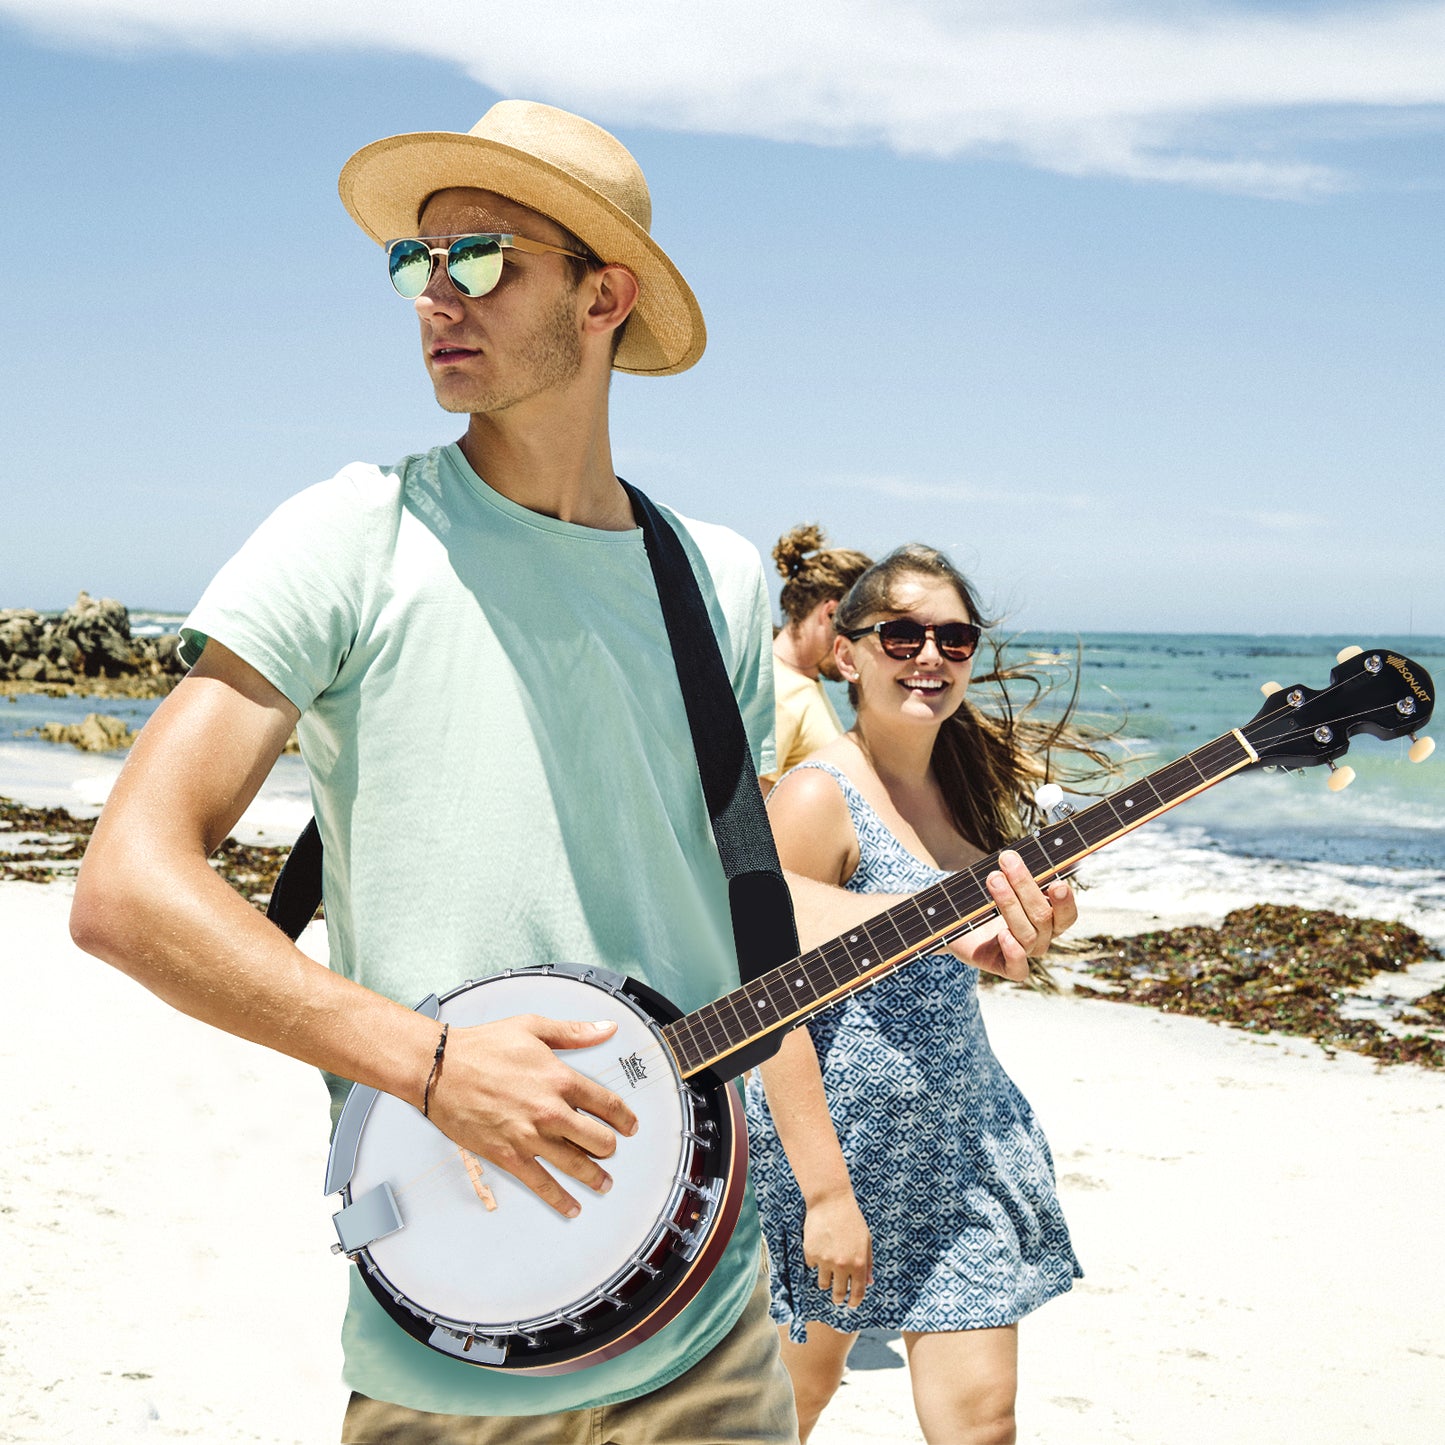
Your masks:
M 81 867 L 71 933 L 197 1019 L 420 1104 L 436 1025 L 308 958 L 208 861 L 296 717 L 254 668 L 210 643 L 116 782 Z M 607 1188 L 597 1157 L 614 1152 L 613 1129 L 631 1133 L 636 1118 L 553 1049 L 611 1032 L 532 1017 L 454 1030 L 432 1118 L 553 1208 L 575 1212 L 539 1160 Z

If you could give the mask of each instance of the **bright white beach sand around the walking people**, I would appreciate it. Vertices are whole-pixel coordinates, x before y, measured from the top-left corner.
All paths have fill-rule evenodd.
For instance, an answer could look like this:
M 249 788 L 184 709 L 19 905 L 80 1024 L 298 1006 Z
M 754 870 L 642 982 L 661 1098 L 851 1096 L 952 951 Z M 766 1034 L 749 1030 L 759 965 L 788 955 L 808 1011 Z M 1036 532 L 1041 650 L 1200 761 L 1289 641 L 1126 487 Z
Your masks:
M 331 1445 L 319 1078 L 79 954 L 68 902 L 0 886 L 0 1441 Z M 1023 1325 L 1022 1439 L 1442 1438 L 1445 1075 L 1009 988 L 985 1013 L 1088 1272 Z M 920 1438 L 897 1351 L 864 1341 L 818 1445 Z

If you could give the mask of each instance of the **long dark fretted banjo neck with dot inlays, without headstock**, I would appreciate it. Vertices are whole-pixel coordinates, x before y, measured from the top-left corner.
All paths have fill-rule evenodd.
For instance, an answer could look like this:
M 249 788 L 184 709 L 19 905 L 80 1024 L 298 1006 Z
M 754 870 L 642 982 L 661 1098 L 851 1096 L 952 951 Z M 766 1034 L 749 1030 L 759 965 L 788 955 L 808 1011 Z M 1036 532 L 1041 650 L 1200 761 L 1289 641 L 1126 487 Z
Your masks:
M 1023 858 L 1035 880 L 1046 884 L 1105 844 L 1257 762 L 1259 753 L 1243 733 L 1225 733 L 1009 848 Z M 991 853 L 819 948 L 663 1026 L 662 1035 L 679 1072 L 691 1078 L 707 1069 L 728 1078 L 738 1072 L 730 1068 L 730 1059 L 751 1051 L 766 1035 L 805 1023 L 909 959 L 936 951 L 996 918 L 998 910 L 988 894 L 987 879 L 997 867 L 998 853 Z

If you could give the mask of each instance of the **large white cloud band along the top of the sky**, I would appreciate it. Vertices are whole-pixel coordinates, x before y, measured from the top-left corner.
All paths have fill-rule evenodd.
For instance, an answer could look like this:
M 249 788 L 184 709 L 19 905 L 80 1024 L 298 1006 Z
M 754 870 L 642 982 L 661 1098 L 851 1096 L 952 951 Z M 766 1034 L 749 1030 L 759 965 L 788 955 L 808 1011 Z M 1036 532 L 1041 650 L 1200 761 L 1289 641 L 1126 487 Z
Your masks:
M 1364 130 L 1381 113 L 1418 123 L 1419 108 L 1445 107 L 1439 0 L 1283 12 L 1143 0 L 0 0 L 0 14 L 88 48 L 426 55 L 611 124 L 993 153 L 1260 195 L 1348 184 L 1280 153 L 1290 117 L 1328 107 Z

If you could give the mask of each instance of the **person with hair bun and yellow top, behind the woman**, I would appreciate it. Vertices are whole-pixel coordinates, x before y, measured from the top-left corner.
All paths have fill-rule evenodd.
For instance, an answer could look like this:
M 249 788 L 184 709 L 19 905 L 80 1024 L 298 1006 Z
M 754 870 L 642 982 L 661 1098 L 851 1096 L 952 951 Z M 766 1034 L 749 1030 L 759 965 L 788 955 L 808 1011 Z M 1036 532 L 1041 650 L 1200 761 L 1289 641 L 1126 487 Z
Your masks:
M 773 561 L 783 577 L 783 626 L 773 637 L 777 695 L 777 769 L 762 779 L 763 793 L 809 753 L 842 733 L 842 722 L 819 676 L 838 681 L 832 660 L 832 614 L 838 600 L 873 565 L 861 552 L 824 546 L 816 523 L 783 533 Z

